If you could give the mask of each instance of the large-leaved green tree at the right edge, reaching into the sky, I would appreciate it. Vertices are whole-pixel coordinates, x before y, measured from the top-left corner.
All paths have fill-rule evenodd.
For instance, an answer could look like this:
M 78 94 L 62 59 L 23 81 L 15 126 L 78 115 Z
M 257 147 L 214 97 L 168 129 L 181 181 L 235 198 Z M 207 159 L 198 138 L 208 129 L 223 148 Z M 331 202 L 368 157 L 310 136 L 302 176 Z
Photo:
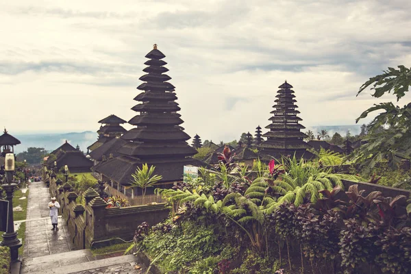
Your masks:
M 386 92 L 393 92 L 399 101 L 411 86 L 411 71 L 405 66 L 398 68 L 388 68 L 383 74 L 371 77 L 360 87 L 357 96 L 372 86 L 371 90 L 375 92 L 371 96 L 379 98 Z M 398 169 L 402 159 L 411 158 L 411 103 L 404 105 L 403 108 L 390 102 L 375 104 L 362 112 L 356 123 L 375 111 L 383 112 L 371 121 L 367 128 L 367 136 L 364 138 L 367 143 L 353 155 L 353 160 L 364 167 L 367 173 L 382 160 L 388 160 L 392 169 Z

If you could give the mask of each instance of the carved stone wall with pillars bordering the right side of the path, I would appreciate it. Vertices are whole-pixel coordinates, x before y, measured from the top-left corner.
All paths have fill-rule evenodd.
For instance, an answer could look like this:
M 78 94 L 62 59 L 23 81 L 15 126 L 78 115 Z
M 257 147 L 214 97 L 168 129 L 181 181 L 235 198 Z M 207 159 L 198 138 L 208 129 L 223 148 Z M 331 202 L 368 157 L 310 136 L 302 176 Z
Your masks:
M 50 180 L 49 191 L 60 203 L 60 214 L 69 228 L 71 241 L 79 249 L 132 240 L 142 222 L 155 225 L 169 215 L 165 203 L 105 208 L 105 201 L 91 188 L 84 192 L 85 203 L 77 204 L 77 194 L 70 184 L 56 184 L 54 179 Z

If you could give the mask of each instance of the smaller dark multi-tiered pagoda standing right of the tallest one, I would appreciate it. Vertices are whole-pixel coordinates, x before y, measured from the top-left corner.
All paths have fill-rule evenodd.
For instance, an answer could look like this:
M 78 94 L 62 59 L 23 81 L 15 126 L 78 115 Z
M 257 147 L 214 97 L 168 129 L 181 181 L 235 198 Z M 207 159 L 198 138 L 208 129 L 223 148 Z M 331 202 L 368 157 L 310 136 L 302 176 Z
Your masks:
M 291 90 L 292 86 L 287 82 L 279 88 L 280 90 L 275 96 L 277 98 L 275 105 L 273 105 L 275 110 L 270 112 L 274 115 L 269 119 L 272 123 L 266 126 L 266 129 L 270 129 L 270 131 L 262 135 L 266 141 L 260 144 L 261 153 L 275 158 L 279 158 L 281 155 L 312 158 L 312 153 L 306 151 L 310 145 L 303 141 L 307 135 L 300 132 L 300 129 L 305 127 L 299 124 L 302 119 L 297 116 L 300 112 L 296 110 L 298 105 L 295 105 L 297 102 L 294 99 L 295 92 Z

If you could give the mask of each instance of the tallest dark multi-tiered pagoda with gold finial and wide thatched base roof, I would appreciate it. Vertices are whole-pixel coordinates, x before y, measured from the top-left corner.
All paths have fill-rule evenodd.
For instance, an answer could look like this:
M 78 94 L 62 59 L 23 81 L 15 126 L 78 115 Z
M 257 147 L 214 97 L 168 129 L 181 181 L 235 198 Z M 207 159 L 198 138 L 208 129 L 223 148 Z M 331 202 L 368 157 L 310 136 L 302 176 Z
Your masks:
M 186 141 L 190 136 L 180 126 L 184 121 L 177 114 L 180 108 L 175 102 L 175 86 L 168 82 L 171 77 L 164 74 L 169 71 L 162 60 L 165 55 L 154 45 L 145 57 L 149 59 L 143 69 L 147 74 L 140 77 L 144 83 L 137 88 L 142 92 L 134 98 L 140 103 L 132 108 L 138 114 L 128 122 L 135 127 L 121 136 L 125 143 L 117 150 L 119 157 L 109 158 L 92 168 L 106 182 L 114 182 L 117 189 L 123 186 L 121 190 L 126 195 L 124 187 L 130 186 L 132 174 L 142 164 L 155 166 L 154 173 L 162 176 L 159 182 L 162 187 L 182 181 L 185 165 L 203 164 L 190 157 L 197 150 L 188 145 Z

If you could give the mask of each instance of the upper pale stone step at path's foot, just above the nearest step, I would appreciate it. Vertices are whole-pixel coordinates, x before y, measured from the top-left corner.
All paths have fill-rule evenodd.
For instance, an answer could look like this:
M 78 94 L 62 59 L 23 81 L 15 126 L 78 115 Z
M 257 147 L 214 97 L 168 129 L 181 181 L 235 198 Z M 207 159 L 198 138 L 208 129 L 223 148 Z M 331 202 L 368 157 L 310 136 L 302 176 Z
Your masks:
M 95 260 L 90 249 L 81 249 L 53 255 L 23 259 L 23 273 L 46 273 L 51 269 L 59 269 L 64 266 L 71 267 Z M 60 272 L 59 272 L 60 273 Z

